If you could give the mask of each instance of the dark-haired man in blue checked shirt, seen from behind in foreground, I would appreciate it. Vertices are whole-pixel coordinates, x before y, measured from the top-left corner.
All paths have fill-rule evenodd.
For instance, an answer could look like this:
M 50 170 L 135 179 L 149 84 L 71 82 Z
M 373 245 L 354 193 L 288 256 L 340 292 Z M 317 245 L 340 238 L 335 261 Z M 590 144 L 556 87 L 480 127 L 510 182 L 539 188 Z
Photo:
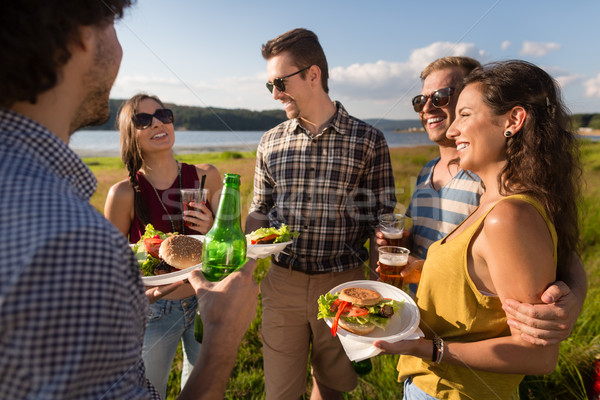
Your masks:
M 80 127 L 108 118 L 122 56 L 113 23 L 129 3 L 2 6 L 2 399 L 158 399 L 144 377 L 148 300 L 137 261 L 126 238 L 89 204 L 96 179 L 67 145 Z M 190 275 L 204 346 L 182 398 L 224 395 L 256 311 L 252 272 L 244 267 L 218 284 Z M 225 307 L 220 299 L 240 312 L 215 312 Z

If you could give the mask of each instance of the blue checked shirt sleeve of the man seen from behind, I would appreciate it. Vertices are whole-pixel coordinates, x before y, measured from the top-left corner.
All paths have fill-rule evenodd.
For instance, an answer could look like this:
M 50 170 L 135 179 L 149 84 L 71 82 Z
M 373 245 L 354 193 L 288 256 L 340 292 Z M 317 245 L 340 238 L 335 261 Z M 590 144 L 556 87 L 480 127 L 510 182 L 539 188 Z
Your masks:
M 147 300 L 137 263 L 105 228 L 56 235 L 15 266 L 0 296 L 3 397 L 158 398 L 141 358 Z

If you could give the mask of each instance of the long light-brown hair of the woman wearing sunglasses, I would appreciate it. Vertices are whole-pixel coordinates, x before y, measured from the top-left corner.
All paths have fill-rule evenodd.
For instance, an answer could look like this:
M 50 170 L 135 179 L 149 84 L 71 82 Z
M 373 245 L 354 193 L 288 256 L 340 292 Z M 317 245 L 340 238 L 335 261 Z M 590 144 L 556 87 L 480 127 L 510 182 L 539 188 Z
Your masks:
M 137 172 L 144 164 L 144 155 L 137 140 L 137 132 L 133 125 L 133 116 L 137 113 L 140 103 L 147 99 L 156 101 L 162 108 L 165 107 L 158 97 L 146 93 L 138 93 L 121 105 L 117 116 L 117 128 L 119 129 L 121 140 L 121 161 L 123 161 L 129 173 L 129 183 L 134 192 L 133 205 L 135 213 L 144 225 L 149 223 L 150 218 L 148 217 L 146 205 L 142 200 L 137 180 Z

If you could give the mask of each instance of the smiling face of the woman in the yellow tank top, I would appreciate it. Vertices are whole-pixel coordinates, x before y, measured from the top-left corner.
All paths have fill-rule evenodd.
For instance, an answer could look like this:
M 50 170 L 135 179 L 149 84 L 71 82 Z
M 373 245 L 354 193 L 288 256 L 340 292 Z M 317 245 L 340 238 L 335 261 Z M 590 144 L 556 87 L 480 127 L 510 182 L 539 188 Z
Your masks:
M 463 89 L 456 105 L 456 119 L 447 133 L 448 139 L 456 143 L 462 169 L 481 174 L 503 167 L 507 121 L 507 114 L 495 115 L 483 101 L 480 84 Z

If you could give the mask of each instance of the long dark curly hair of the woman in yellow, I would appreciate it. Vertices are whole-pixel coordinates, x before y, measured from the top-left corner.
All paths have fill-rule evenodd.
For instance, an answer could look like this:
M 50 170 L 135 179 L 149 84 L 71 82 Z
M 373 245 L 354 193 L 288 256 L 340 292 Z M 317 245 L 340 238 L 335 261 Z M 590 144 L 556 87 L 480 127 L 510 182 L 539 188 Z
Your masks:
M 513 107 L 527 116 L 506 141 L 507 163 L 498 177 L 500 192 L 525 193 L 540 201 L 558 233 L 558 265 L 578 251 L 577 203 L 582 169 L 578 139 L 557 83 L 541 68 L 520 60 L 491 63 L 465 78 L 481 85 L 484 102 L 496 115 Z

